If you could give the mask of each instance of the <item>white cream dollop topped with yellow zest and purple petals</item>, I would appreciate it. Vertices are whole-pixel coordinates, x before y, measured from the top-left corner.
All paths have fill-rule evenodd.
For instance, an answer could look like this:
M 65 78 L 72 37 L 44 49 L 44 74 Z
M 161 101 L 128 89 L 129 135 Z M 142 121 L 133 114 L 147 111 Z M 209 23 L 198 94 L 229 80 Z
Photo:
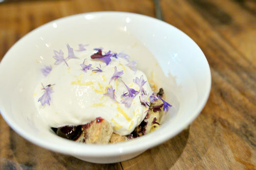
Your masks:
M 50 105 L 38 102 L 44 93 L 41 83 L 35 88 L 36 108 L 50 127 L 83 125 L 102 117 L 115 133 L 127 135 L 142 122 L 148 108 L 141 101 L 150 101 L 153 93 L 142 71 L 115 57 L 108 65 L 90 55 L 67 62 L 54 65 L 41 81 L 52 85 Z

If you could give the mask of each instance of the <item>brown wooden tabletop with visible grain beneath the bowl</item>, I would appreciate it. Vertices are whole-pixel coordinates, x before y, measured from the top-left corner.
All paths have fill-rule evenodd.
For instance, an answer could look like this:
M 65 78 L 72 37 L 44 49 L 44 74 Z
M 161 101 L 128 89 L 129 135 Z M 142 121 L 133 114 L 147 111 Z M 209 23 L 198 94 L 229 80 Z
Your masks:
M 37 147 L 0 116 L 0 169 L 255 169 L 256 1 L 161 0 L 164 20 L 185 32 L 211 69 L 209 100 L 188 129 L 134 159 L 84 162 Z M 0 60 L 31 30 L 92 11 L 155 16 L 153 0 L 23 1 L 0 4 Z M 3 82 L 0 82 L 3 83 Z

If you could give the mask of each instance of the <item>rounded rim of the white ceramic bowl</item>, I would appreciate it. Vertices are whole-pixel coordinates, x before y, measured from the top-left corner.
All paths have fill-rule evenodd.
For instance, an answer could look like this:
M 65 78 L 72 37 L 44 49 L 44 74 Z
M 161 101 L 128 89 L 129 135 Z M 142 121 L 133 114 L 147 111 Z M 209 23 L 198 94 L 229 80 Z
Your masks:
M 44 29 L 45 27 L 48 27 L 49 25 L 51 25 L 53 22 L 59 22 L 59 21 L 66 20 L 68 18 L 76 18 L 76 17 L 79 17 L 79 16 L 88 15 L 88 14 L 90 14 L 90 15 L 114 14 L 114 15 L 123 15 L 123 16 L 125 15 L 126 17 L 130 16 L 130 17 L 150 19 L 150 20 L 153 20 L 154 22 L 161 23 L 161 24 L 167 25 L 169 27 L 172 27 L 176 31 L 181 32 L 187 38 L 192 40 L 188 35 L 186 35 L 184 32 L 182 32 L 178 28 L 170 25 L 167 22 L 164 22 L 162 20 L 156 19 L 156 18 L 151 17 L 151 16 L 146 16 L 146 15 L 136 14 L 136 13 L 130 13 L 130 12 L 117 12 L 117 11 L 80 13 L 80 14 L 76 14 L 76 15 L 70 15 L 70 16 L 58 18 L 56 20 L 45 23 L 44 25 L 32 30 L 31 32 L 29 32 L 28 34 L 26 34 L 25 36 L 20 38 L 16 43 L 14 43 L 14 45 L 5 54 L 2 61 L 0 62 L 0 67 L 3 63 L 5 63 L 5 59 L 8 57 L 10 51 L 12 51 L 12 49 L 15 46 L 17 46 L 20 42 L 22 42 L 25 38 L 29 37 L 31 34 L 36 33 L 37 30 Z M 192 41 L 196 44 L 196 42 L 194 40 L 192 40 Z M 205 55 L 203 54 L 201 48 L 198 45 L 197 45 L 197 47 L 199 48 L 200 52 L 202 53 L 202 55 L 205 59 L 206 67 L 207 67 L 206 74 L 208 75 L 207 76 L 207 78 L 208 78 L 208 80 L 207 80 L 208 88 L 207 88 L 207 92 L 204 93 L 203 96 L 202 96 L 202 99 L 203 99 L 202 101 L 203 102 L 198 104 L 197 109 L 195 109 L 195 111 L 194 111 L 195 114 L 193 114 L 193 116 L 190 116 L 188 119 L 185 119 L 184 122 L 183 122 L 183 125 L 178 127 L 176 131 L 170 131 L 170 133 L 168 133 L 166 135 L 158 136 L 158 138 L 153 137 L 153 135 L 156 134 L 156 131 L 155 131 L 155 132 L 152 132 L 148 135 L 144 135 L 142 137 L 130 140 L 128 142 L 115 143 L 115 144 L 106 144 L 106 145 L 86 144 L 86 145 L 84 145 L 82 143 L 77 143 L 77 142 L 69 141 L 69 140 L 66 140 L 66 139 L 64 139 L 65 141 L 63 141 L 63 144 L 50 143 L 47 140 L 41 140 L 41 139 L 38 139 L 38 138 L 34 138 L 33 135 L 31 135 L 30 133 L 27 133 L 22 128 L 19 128 L 19 126 L 17 126 L 16 123 L 8 116 L 8 113 L 4 112 L 3 110 L 0 110 L 0 113 L 2 114 L 2 116 L 5 119 L 5 121 L 7 122 L 7 124 L 16 133 L 18 133 L 20 136 L 24 137 L 25 139 L 27 139 L 28 141 L 30 141 L 32 143 L 35 143 L 36 145 L 39 145 L 42 148 L 46 148 L 48 150 L 59 152 L 59 153 L 62 153 L 62 154 L 71 154 L 71 155 L 89 156 L 89 157 L 98 157 L 98 156 L 106 157 L 106 156 L 117 156 L 117 155 L 131 154 L 131 153 L 140 152 L 140 151 L 143 151 L 143 150 L 146 150 L 146 149 L 149 149 L 149 148 L 153 148 L 156 145 L 159 145 L 159 144 L 163 143 L 164 141 L 174 137 L 175 135 L 180 133 L 182 130 L 184 130 L 200 114 L 200 112 L 202 111 L 202 109 L 204 108 L 204 106 L 207 102 L 207 99 L 208 99 L 209 94 L 210 94 L 210 89 L 211 89 L 210 67 L 209 67 L 209 64 L 208 64 L 208 62 L 205 58 Z M 1 104 L 0 104 L 0 109 L 1 109 Z M 148 139 L 150 139 L 150 140 L 148 140 Z M 131 143 L 131 144 L 127 144 L 127 143 Z M 67 145 L 67 147 L 63 147 L 62 145 L 65 145 L 65 146 Z M 73 148 L 71 148 L 71 147 L 73 147 Z

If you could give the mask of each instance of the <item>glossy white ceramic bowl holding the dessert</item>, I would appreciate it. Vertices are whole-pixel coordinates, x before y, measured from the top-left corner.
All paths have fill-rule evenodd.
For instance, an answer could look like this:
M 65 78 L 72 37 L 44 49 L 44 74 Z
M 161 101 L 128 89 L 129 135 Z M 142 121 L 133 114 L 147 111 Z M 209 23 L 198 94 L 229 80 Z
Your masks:
M 54 63 L 53 50 L 66 43 L 89 43 L 139 60 L 139 69 L 165 90 L 173 105 L 162 126 L 148 135 L 118 144 L 76 143 L 53 134 L 38 115 L 33 90 L 40 82 L 40 68 Z M 73 15 L 41 26 L 7 52 L 0 64 L 0 109 L 19 135 L 40 147 L 95 163 L 131 159 L 172 138 L 203 109 L 211 85 L 210 69 L 199 46 L 186 34 L 158 19 L 125 12 Z

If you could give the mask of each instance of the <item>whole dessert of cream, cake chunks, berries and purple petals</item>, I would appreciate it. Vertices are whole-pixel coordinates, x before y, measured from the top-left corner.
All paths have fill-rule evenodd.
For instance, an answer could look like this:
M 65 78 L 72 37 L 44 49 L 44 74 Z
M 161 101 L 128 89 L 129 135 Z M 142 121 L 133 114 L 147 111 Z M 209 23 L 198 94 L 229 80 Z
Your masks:
M 41 69 L 45 78 L 35 88 L 35 106 L 51 129 L 87 144 L 127 141 L 156 130 L 172 107 L 164 90 L 157 92 L 124 52 L 79 46 L 67 44 L 67 55 L 54 51 L 54 65 Z

